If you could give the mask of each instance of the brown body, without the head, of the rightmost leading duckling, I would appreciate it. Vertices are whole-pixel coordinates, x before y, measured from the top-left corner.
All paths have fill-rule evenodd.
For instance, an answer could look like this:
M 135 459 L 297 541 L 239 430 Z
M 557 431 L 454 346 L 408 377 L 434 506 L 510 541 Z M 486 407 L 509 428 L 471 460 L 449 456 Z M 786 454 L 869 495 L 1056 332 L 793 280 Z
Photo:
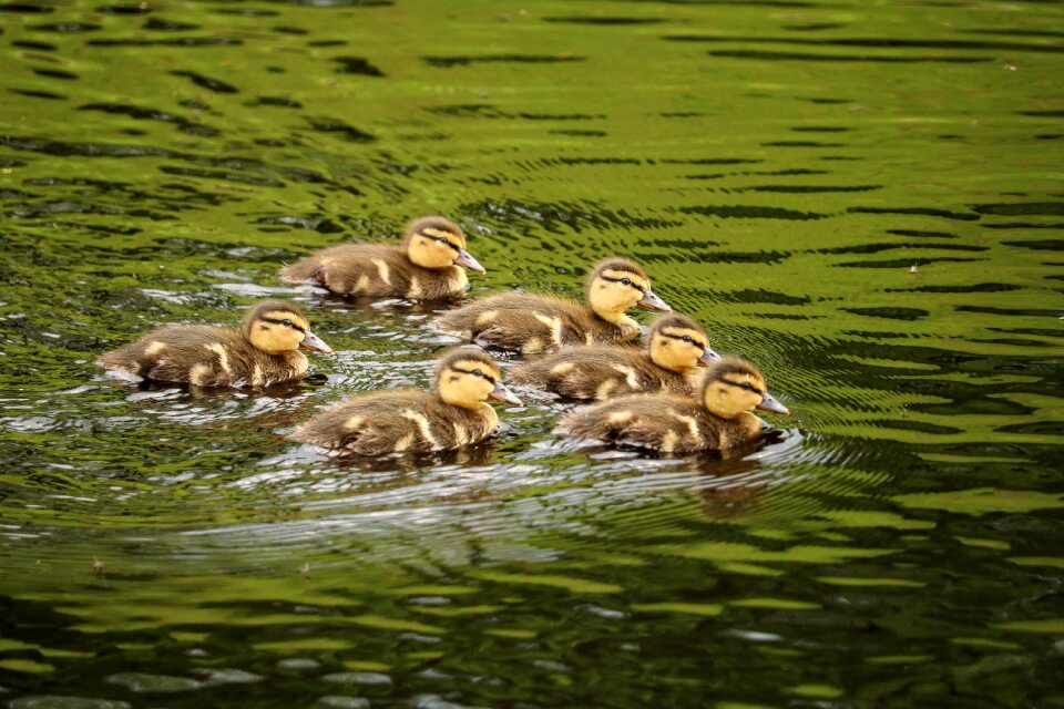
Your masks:
M 637 394 L 572 413 L 562 419 L 557 430 L 663 453 L 693 453 L 749 442 L 760 435 L 763 425 L 760 419 L 747 412 L 734 419 L 715 417 L 690 398 Z

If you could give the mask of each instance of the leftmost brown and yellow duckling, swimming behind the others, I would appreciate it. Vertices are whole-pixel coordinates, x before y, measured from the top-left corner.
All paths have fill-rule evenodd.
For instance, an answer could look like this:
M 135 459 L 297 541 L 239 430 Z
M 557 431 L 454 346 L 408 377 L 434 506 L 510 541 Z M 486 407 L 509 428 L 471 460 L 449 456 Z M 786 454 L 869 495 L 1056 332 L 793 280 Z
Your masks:
M 102 354 L 96 364 L 124 379 L 153 379 L 197 387 L 269 387 L 307 373 L 299 349 L 331 354 L 310 331 L 299 308 L 264 300 L 239 330 L 175 325 Z

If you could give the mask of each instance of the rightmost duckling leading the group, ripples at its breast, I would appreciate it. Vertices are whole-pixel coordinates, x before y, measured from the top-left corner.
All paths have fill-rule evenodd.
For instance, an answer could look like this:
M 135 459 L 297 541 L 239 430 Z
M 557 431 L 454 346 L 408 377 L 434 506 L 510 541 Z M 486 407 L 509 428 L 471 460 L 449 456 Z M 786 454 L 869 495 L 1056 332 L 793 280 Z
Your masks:
M 703 376 L 695 399 L 668 393 L 611 399 L 565 417 L 557 431 L 663 453 L 726 450 L 760 435 L 755 408 L 790 413 L 768 393 L 756 367 L 724 358 Z

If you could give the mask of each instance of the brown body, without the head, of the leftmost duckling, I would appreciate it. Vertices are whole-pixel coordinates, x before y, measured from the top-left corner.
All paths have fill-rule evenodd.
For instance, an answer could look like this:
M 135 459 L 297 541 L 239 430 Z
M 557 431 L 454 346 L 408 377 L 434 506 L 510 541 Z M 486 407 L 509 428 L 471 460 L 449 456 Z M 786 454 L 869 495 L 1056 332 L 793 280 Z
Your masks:
M 264 387 L 298 379 L 307 358 L 266 354 L 236 330 L 203 325 L 162 328 L 102 354 L 96 364 L 121 377 L 197 387 Z

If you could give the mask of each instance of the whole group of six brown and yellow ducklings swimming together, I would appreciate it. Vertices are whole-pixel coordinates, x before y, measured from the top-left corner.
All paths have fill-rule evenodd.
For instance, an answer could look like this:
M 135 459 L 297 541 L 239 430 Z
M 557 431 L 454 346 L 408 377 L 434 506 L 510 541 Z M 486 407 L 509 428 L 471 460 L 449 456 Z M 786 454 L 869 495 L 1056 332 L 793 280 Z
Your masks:
M 437 300 L 464 294 L 467 269 L 484 273 L 466 250 L 462 229 L 433 216 L 413 222 L 399 246 L 334 246 L 285 266 L 280 278 L 341 295 Z M 557 430 L 574 436 L 664 453 L 720 450 L 760 435 L 755 408 L 789 413 L 768 393 L 757 368 L 714 352 L 703 327 L 686 316 L 659 316 L 644 350 L 626 345 L 641 333 L 626 315 L 633 307 L 672 312 L 641 266 L 608 258 L 592 269 L 583 304 L 503 292 L 444 312 L 432 325 L 482 348 L 545 353 L 514 367 L 510 379 L 598 401 L 562 419 Z M 332 352 L 296 306 L 266 300 L 247 314 L 238 330 L 161 328 L 96 363 L 133 380 L 268 387 L 306 374 L 303 349 Z M 699 366 L 706 367 L 702 376 L 696 373 Z M 454 348 L 440 358 L 431 392 L 398 389 L 356 395 L 304 422 L 291 438 L 358 455 L 475 443 L 499 428 L 488 399 L 522 405 L 502 383 L 502 374 L 483 350 Z

